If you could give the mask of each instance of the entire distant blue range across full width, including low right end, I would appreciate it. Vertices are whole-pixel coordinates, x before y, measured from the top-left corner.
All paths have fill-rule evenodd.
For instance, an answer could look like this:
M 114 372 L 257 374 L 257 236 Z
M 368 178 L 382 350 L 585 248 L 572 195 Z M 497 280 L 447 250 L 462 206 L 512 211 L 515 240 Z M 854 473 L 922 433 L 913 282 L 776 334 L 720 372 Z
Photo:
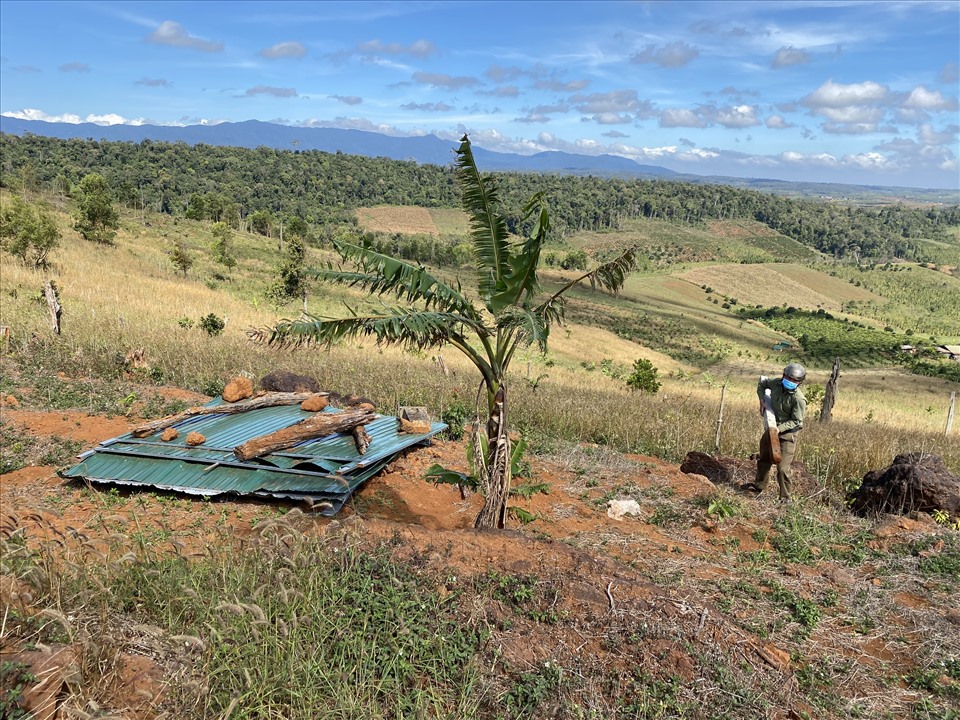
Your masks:
M 81 138 L 119 142 L 185 142 L 231 147 L 269 147 L 276 150 L 321 150 L 365 157 L 386 157 L 419 164 L 453 162 L 456 142 L 436 135 L 394 136 L 366 130 L 304 128 L 246 120 L 216 125 L 96 125 L 22 120 L 0 115 L 0 132 L 32 133 L 61 139 Z M 716 183 L 777 194 L 844 198 L 858 202 L 889 202 L 891 199 L 920 202 L 955 202 L 955 193 L 916 188 L 888 188 L 834 183 L 791 182 L 767 178 L 737 178 L 678 173 L 658 165 L 641 165 L 618 155 L 580 155 L 560 151 L 519 155 L 485 150 L 473 145 L 477 164 L 485 171 L 564 173 L 636 179 L 665 178 L 684 182 Z

